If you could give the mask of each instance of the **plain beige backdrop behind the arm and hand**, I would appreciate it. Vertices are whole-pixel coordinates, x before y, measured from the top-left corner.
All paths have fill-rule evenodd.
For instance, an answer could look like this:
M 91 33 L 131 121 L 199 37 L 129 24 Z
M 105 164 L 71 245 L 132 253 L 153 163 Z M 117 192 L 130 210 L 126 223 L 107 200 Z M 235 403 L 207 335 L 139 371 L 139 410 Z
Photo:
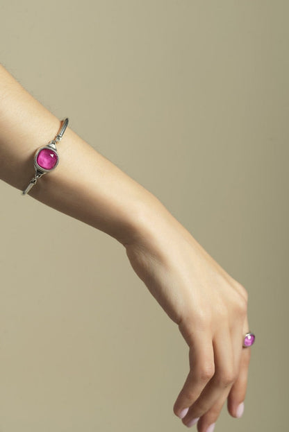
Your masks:
M 288 12 L 285 0 L 0 6 L 4 66 L 249 291 L 245 414 L 224 407 L 215 431 L 288 422 Z M 186 430 L 172 406 L 188 349 L 122 245 L 0 189 L 0 431 Z

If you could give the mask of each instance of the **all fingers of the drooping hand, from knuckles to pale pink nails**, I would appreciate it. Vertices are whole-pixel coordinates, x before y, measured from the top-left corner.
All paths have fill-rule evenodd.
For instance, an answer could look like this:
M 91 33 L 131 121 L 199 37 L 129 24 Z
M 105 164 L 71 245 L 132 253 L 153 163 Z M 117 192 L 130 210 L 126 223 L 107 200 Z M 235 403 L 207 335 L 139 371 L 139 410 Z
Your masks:
M 220 319 L 221 309 L 217 309 L 218 319 L 205 325 L 198 322 L 199 331 L 190 333 L 188 326 L 180 327 L 190 346 L 190 372 L 174 413 L 188 427 L 197 423 L 199 432 L 213 432 L 226 399 L 233 417 L 244 410 L 250 349 L 243 348 L 242 342 L 249 327 L 245 306 L 236 299 L 232 304 L 234 313 L 222 313 Z

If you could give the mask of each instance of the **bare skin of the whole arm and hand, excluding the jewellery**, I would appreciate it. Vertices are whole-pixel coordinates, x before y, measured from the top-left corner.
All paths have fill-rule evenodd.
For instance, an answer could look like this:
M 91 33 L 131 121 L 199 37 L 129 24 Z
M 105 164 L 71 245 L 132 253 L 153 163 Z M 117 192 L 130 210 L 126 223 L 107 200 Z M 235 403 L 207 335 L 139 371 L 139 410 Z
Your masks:
M 60 121 L 0 67 L 0 177 L 24 190 L 33 155 L 56 136 Z M 28 193 L 113 236 L 135 273 L 189 348 L 189 372 L 173 410 L 183 424 L 212 432 L 227 401 L 242 414 L 250 348 L 247 291 L 201 247 L 152 193 L 67 128 L 60 162 Z M 26 198 L 19 199 L 29 199 Z M 198 420 L 195 420 L 198 419 Z

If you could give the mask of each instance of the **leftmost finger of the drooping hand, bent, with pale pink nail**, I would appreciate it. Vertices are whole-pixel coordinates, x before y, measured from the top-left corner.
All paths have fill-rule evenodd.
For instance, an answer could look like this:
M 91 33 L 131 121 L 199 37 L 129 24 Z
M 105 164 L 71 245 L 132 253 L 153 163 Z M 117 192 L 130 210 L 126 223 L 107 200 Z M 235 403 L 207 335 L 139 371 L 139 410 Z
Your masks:
M 190 372 L 174 404 L 174 413 L 183 418 L 215 373 L 210 334 L 195 333 L 190 345 Z

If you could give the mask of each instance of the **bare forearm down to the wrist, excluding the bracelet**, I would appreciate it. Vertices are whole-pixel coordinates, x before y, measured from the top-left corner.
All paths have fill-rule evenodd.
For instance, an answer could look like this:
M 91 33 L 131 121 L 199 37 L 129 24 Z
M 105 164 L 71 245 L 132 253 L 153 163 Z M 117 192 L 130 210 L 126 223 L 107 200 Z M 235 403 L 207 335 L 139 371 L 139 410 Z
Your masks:
M 48 144 L 59 127 L 59 119 L 0 67 L 1 179 L 24 190 L 34 174 L 35 150 Z M 58 154 L 57 168 L 43 175 L 29 195 L 120 243 L 140 230 L 144 207 L 163 207 L 70 128 L 58 144 Z

